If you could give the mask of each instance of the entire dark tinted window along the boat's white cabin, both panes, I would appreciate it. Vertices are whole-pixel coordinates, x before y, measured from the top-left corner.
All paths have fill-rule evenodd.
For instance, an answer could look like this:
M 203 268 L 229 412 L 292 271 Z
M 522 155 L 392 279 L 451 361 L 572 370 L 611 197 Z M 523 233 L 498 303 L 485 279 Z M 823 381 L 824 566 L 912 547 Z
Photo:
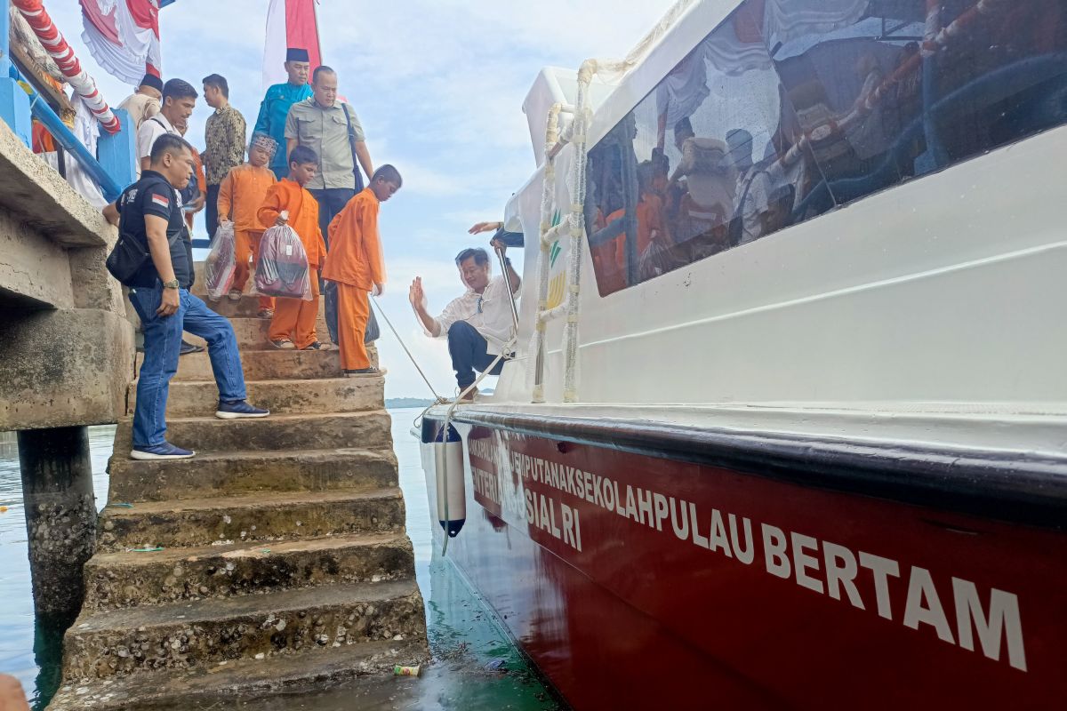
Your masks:
M 1061 0 L 748 0 L 589 151 L 607 295 L 1067 120 Z

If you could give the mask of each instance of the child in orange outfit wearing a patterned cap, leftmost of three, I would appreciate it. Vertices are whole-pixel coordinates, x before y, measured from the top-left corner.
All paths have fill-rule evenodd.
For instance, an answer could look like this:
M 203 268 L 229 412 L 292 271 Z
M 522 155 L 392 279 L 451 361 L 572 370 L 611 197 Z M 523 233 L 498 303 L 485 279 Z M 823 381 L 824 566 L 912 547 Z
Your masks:
M 237 269 L 234 271 L 234 286 L 228 294 L 233 301 L 241 297 L 249 280 L 249 256 L 253 261 L 259 260 L 259 240 L 267 228 L 259 222 L 257 213 L 267 197 L 267 191 L 277 182 L 274 172 L 267 167 L 276 149 L 274 139 L 266 133 L 254 133 L 249 145 L 249 162 L 226 174 L 219 188 L 219 222 L 234 223 Z M 259 318 L 270 319 L 273 316 L 273 297 L 259 296 Z

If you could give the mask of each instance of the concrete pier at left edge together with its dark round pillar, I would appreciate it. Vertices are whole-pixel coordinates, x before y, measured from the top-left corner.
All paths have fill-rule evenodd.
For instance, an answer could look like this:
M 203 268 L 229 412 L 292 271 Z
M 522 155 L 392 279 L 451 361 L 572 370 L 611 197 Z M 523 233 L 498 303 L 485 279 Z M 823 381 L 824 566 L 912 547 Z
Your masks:
M 0 430 L 20 433 L 38 614 L 80 607 L 96 518 L 85 425 L 117 421 L 133 378 L 133 328 L 103 265 L 116 237 L 0 122 Z

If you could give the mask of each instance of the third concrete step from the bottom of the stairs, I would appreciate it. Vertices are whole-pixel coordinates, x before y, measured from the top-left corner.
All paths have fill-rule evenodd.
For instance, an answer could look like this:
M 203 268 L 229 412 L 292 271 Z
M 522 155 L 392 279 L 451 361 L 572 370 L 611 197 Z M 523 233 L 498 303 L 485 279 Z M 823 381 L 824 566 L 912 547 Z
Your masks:
M 82 609 L 114 610 L 414 577 L 414 553 L 402 533 L 97 553 L 85 564 Z

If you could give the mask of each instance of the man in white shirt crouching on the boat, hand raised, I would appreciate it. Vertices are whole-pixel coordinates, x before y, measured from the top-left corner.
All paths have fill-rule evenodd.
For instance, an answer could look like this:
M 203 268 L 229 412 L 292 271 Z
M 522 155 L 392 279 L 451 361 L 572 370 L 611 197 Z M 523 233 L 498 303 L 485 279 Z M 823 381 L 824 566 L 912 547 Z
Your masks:
M 507 249 L 495 240 L 493 246 L 501 254 Z M 514 330 L 510 294 L 517 294 L 522 279 L 512 269 L 510 259 L 505 258 L 504 263 L 507 274 L 491 277 L 489 254 L 484 249 L 477 247 L 461 252 L 456 257 L 456 265 L 467 291 L 449 302 L 436 318 L 430 316 L 426 308 L 423 277 L 415 277 L 408 292 L 415 316 L 427 334 L 434 338 L 448 337 L 456 384 L 464 401 L 473 401 L 478 394 L 478 388 L 471 387 L 475 381 L 474 371 L 485 372 L 503 353 Z M 488 372 L 499 375 L 503 368 L 501 358 Z M 471 391 L 464 394 L 468 387 Z

